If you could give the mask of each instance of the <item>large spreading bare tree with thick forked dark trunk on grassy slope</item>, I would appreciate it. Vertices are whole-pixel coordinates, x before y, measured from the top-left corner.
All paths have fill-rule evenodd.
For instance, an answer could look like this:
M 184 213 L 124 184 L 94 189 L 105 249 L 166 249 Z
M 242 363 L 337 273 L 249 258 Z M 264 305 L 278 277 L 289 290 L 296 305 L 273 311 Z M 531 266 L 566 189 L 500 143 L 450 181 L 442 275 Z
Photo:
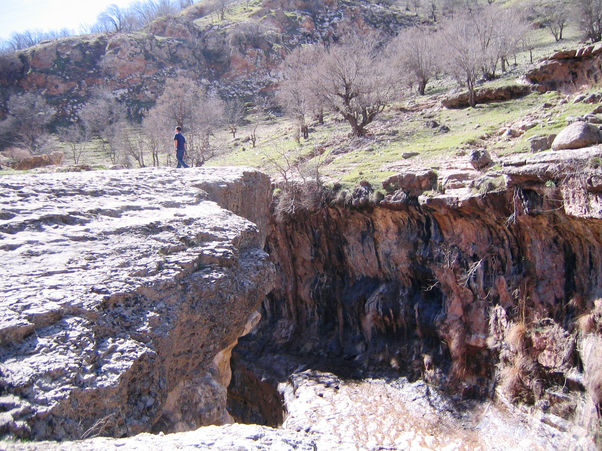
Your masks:
M 356 137 L 400 94 L 399 77 L 378 44 L 374 37 L 350 36 L 330 46 L 313 71 L 318 101 L 341 114 Z

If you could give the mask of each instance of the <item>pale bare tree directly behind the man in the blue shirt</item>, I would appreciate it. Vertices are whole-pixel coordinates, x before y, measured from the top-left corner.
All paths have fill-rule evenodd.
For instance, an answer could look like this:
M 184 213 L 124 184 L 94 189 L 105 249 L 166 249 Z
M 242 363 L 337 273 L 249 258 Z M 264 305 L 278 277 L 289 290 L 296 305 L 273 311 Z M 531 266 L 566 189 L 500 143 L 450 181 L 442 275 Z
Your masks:
M 208 97 L 190 78 L 167 79 L 163 94 L 149 116 L 158 116 L 172 130 L 181 126 L 187 136 L 187 155 L 192 164 L 202 165 L 213 158 L 215 149 L 209 137 L 223 121 L 223 102 Z

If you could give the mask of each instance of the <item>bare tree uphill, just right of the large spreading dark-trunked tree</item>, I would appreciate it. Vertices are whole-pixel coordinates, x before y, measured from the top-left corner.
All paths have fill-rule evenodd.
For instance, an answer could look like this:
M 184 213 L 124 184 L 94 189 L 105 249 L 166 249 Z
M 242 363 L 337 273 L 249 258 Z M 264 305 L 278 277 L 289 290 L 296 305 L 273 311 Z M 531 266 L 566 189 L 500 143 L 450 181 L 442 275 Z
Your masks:
M 429 79 L 435 76 L 440 59 L 437 49 L 438 38 L 428 29 L 412 26 L 391 42 L 389 53 L 400 77 L 418 85 L 418 92 L 424 96 Z

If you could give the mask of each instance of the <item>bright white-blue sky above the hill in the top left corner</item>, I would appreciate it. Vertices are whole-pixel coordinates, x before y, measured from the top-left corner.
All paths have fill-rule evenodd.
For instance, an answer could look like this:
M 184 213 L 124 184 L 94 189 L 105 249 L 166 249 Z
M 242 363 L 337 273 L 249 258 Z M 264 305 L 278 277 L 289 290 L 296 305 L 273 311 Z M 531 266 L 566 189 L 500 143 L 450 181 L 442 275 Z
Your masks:
M 94 23 L 111 3 L 125 7 L 132 0 L 0 0 L 0 39 L 14 31 L 73 28 Z

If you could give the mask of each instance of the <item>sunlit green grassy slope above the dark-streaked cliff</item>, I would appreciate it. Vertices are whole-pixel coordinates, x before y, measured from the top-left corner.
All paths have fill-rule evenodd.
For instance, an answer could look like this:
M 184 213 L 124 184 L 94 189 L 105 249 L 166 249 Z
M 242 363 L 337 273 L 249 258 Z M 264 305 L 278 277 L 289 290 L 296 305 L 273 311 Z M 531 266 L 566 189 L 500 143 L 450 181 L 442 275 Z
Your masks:
M 554 49 L 577 48 L 579 45 L 579 32 L 576 28 L 569 28 L 560 43 L 554 42 L 547 29 L 536 31 L 539 46 L 533 52 L 533 60 L 537 61 L 543 55 L 551 54 Z M 517 55 L 518 66 L 513 67 L 506 76 L 493 82 L 484 84 L 483 87 L 505 85 L 515 79 L 529 67 L 529 53 L 522 52 Z M 433 82 L 427 90 L 427 97 L 433 94 L 444 93 L 455 87 L 450 79 Z M 592 87 L 591 91 L 595 88 Z M 347 133 L 349 126 L 335 120 L 333 115 L 326 117 L 325 126 L 314 125 L 315 132 L 310 134 L 309 140 L 301 140 L 296 144 L 293 140 L 294 122 L 290 119 L 269 119 L 262 121 L 258 128 L 258 144 L 255 149 L 250 149 L 247 144 L 234 147 L 228 144 L 225 153 L 220 158 L 211 161 L 211 165 L 239 165 L 248 164 L 268 172 L 275 172 L 275 167 L 268 161 L 267 156 L 278 156 L 283 150 L 295 150 L 303 154 L 314 152 L 314 147 L 327 147 L 327 152 L 320 157 L 328 164 L 323 165 L 322 173 L 332 180 L 340 180 L 355 184 L 359 180 L 379 182 L 399 169 L 403 164 L 402 153 L 418 152 L 412 158 L 415 162 L 425 165 L 436 165 L 439 159 L 447 159 L 458 154 L 461 150 L 470 151 L 471 147 L 487 147 L 498 156 L 515 152 L 527 152 L 529 142 L 527 138 L 532 135 L 547 135 L 558 133 L 566 126 L 566 117 L 583 115 L 591 112 L 592 105 L 583 103 L 566 103 L 553 108 L 544 108 L 545 102 L 554 103 L 559 100 L 560 93 L 532 93 L 522 99 L 508 100 L 506 102 L 479 105 L 477 108 L 467 109 L 438 109 L 427 110 L 424 113 L 406 113 L 400 111 L 399 105 L 393 105 L 377 121 L 369 127 L 373 136 L 364 139 L 349 139 Z M 410 100 L 426 100 L 414 96 Z M 498 135 L 501 127 L 509 126 L 527 114 L 539 116 L 541 122 L 533 129 L 527 130 L 523 137 L 501 140 Z M 550 115 L 551 122 L 545 115 Z M 450 132 L 439 133 L 424 127 L 427 119 L 436 120 L 450 127 Z M 244 137 L 249 132 L 248 127 L 240 130 L 239 136 Z M 242 151 L 242 147 L 246 150 Z M 340 155 L 332 155 L 339 153 Z M 461 153 L 460 153 L 461 155 Z M 330 162 L 332 160 L 332 162 Z M 396 167 L 397 166 L 397 167 Z

